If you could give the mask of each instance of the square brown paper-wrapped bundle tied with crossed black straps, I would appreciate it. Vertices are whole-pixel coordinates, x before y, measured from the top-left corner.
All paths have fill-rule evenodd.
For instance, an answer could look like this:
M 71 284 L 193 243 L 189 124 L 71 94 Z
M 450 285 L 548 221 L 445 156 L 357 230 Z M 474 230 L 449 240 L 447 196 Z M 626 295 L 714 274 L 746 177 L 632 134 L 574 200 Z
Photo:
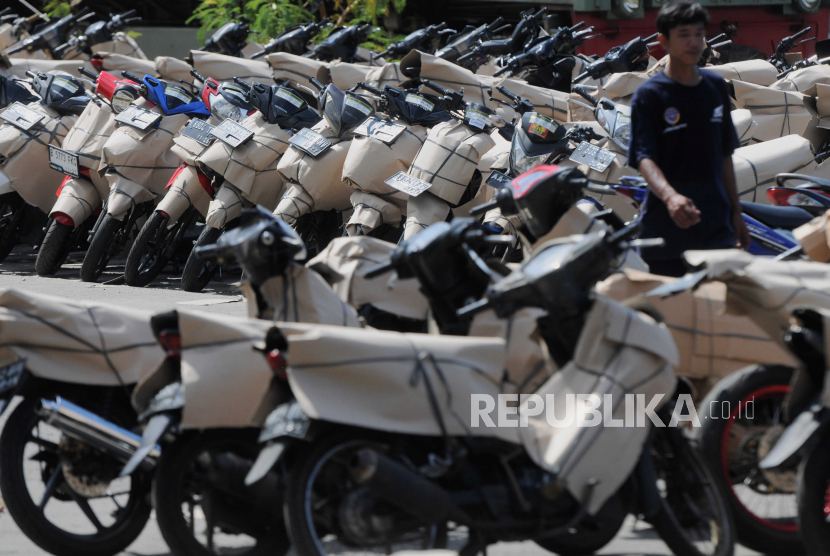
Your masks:
M 457 205 L 481 157 L 493 146 L 492 137 L 475 133 L 462 122 L 440 123 L 429 130 L 409 175 L 431 183 L 429 193 Z

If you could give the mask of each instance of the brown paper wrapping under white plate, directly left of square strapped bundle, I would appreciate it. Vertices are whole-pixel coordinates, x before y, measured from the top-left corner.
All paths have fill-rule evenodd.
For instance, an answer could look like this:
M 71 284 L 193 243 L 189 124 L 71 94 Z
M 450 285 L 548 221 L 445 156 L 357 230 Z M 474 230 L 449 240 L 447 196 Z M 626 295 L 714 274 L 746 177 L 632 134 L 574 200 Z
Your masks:
M 398 120 L 392 123 L 406 125 Z M 426 140 L 427 131 L 422 126 L 406 126 L 391 145 L 375 137 L 356 135 L 343 162 L 343 181 L 405 207 L 408 195 L 389 187 L 384 180 L 409 168 Z

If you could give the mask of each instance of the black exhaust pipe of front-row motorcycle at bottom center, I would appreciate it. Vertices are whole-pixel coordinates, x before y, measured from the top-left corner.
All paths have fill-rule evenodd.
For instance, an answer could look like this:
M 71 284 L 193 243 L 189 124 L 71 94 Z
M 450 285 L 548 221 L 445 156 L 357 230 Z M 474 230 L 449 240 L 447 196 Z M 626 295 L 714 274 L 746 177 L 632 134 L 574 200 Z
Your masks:
M 450 493 L 370 448 L 358 451 L 350 462 L 352 478 L 390 504 L 423 523 L 473 520 L 452 501 Z

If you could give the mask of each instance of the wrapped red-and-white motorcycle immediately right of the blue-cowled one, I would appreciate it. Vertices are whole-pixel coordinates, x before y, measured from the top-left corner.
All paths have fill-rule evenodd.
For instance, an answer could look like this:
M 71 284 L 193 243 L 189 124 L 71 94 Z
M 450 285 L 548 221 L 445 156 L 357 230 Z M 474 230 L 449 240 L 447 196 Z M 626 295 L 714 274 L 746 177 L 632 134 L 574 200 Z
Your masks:
M 201 171 L 196 159 L 216 140 L 215 130 L 225 120 L 242 122 L 256 109 L 248 101 L 247 91 L 236 83 L 218 83 L 191 70 L 202 85 L 201 99 L 210 107 L 205 122 L 192 119 L 173 139 L 173 153 L 182 161 L 164 198 L 141 227 L 124 265 L 124 279 L 129 286 L 143 287 L 152 282 L 174 257 L 186 259 L 190 254 L 187 234 L 197 219 L 207 215 L 210 201 L 218 187 Z M 229 124 L 231 129 L 236 129 Z M 220 127 L 220 133 L 224 128 Z

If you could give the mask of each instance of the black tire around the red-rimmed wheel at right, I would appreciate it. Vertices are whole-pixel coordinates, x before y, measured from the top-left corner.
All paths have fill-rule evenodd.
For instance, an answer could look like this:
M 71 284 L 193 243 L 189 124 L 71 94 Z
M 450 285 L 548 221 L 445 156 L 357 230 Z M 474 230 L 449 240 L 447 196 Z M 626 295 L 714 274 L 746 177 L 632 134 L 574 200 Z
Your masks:
M 788 519 L 770 519 L 768 516 L 760 515 L 759 508 L 763 509 L 761 504 L 746 501 L 748 496 L 754 497 L 757 494 L 760 497 L 761 494 L 745 485 L 745 477 L 755 477 L 753 481 L 766 481 L 766 476 L 757 466 L 761 458 L 757 455 L 757 449 L 753 449 L 753 445 L 757 448 L 763 436 L 759 436 L 758 440 L 750 438 L 748 441 L 746 437 L 738 438 L 737 435 L 743 430 L 738 422 L 738 411 L 743 407 L 742 404 L 752 400 L 752 424 L 756 429 L 761 423 L 761 416 L 758 415 L 759 403 L 765 404 L 764 407 L 770 405 L 773 408 L 770 411 L 774 411 L 774 407 L 777 406 L 778 413 L 781 413 L 780 408 L 790 389 L 793 372 L 792 368 L 780 365 L 759 365 L 741 369 L 716 384 L 700 403 L 698 411 L 701 426 L 697 430 L 697 444 L 700 454 L 712 471 L 715 482 L 728 493 L 727 501 L 732 511 L 738 542 L 764 554 L 803 554 L 804 545 L 795 515 Z M 712 409 L 713 407 L 715 409 Z M 724 407 L 728 408 L 728 418 L 723 418 Z M 783 431 L 783 427 L 780 428 Z M 774 441 L 768 443 L 774 444 Z M 739 449 L 741 451 L 737 455 L 730 456 Z M 753 457 L 754 461 L 751 461 L 750 458 Z M 730 467 L 730 462 L 733 461 L 735 463 Z M 735 475 L 735 466 L 741 469 L 740 475 Z M 745 470 L 747 466 L 751 466 L 748 471 Z M 795 475 L 794 469 L 792 475 Z M 774 489 L 773 485 L 761 486 L 764 489 Z M 794 490 L 793 488 L 793 509 Z M 778 491 L 775 490 L 770 492 L 771 500 L 774 499 L 771 505 L 773 502 L 779 502 L 781 493 L 776 493 Z

